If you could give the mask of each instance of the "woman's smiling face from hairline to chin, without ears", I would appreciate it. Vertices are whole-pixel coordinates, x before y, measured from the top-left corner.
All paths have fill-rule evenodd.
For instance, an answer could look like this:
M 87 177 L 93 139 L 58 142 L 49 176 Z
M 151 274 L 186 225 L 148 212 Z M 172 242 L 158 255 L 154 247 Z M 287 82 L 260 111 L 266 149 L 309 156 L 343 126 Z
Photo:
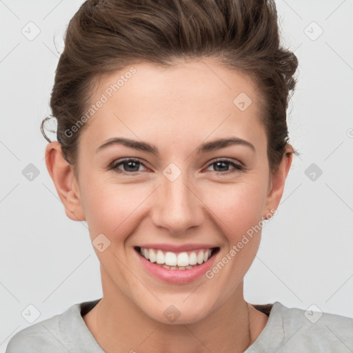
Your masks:
M 259 224 L 278 205 L 259 92 L 213 61 L 133 68 L 94 93 L 103 104 L 79 138 L 77 194 L 100 244 L 104 296 L 160 322 L 180 313 L 190 323 L 242 295 Z M 117 138 L 130 145 L 107 144 Z

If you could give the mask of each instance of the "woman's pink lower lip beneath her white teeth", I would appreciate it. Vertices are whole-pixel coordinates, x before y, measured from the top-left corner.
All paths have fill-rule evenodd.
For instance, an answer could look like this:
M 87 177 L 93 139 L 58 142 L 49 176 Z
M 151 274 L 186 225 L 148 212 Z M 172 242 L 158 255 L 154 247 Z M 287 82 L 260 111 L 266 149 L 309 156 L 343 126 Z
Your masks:
M 208 261 L 194 268 L 190 268 L 189 270 L 168 270 L 168 268 L 163 268 L 160 265 L 148 261 L 136 250 L 134 250 L 134 252 L 136 252 L 139 261 L 141 261 L 143 267 L 150 274 L 168 283 L 190 283 L 199 279 L 205 275 L 206 271 L 210 270 L 212 263 L 214 263 L 214 258 L 216 257 L 216 254 L 213 254 Z

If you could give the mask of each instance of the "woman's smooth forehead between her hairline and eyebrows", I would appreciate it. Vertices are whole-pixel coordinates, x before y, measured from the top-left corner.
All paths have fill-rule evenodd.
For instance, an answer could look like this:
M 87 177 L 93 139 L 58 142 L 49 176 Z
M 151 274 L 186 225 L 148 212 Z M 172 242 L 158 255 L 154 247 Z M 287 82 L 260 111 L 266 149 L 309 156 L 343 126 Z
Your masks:
M 88 119 L 80 143 L 97 148 L 105 139 L 124 136 L 183 144 L 232 134 L 261 143 L 259 94 L 250 77 L 210 60 L 168 68 L 134 64 L 100 80 L 92 94 L 92 104 L 100 108 Z

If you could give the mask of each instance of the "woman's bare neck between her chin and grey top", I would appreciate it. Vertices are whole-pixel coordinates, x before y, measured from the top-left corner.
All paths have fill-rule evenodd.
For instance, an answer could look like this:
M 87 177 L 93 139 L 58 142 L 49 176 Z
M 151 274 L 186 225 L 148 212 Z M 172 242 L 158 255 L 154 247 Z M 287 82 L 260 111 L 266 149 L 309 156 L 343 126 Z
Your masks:
M 83 316 L 105 352 L 244 352 L 268 319 L 245 302 L 243 282 L 223 305 L 205 318 L 187 324 L 155 321 L 116 287 L 107 284 L 112 283 L 103 284 L 101 301 Z

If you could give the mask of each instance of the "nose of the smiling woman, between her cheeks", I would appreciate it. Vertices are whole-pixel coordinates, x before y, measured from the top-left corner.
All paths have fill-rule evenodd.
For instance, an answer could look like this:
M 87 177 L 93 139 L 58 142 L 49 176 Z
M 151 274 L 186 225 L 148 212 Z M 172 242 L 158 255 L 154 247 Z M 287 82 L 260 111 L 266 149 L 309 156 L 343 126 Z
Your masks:
M 152 205 L 155 226 L 172 235 L 183 235 L 203 223 L 204 205 L 183 173 L 174 181 L 163 178 L 156 192 Z

